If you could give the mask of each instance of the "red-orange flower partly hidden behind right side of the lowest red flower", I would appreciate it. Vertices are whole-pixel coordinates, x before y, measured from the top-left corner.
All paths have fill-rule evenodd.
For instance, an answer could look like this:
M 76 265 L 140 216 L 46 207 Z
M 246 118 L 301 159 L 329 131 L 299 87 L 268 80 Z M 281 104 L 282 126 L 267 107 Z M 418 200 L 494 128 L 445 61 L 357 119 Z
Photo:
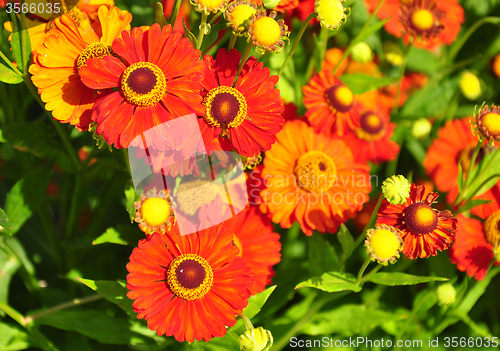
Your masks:
M 249 206 L 227 221 L 227 225 L 235 233 L 234 242 L 240 256 L 247 260 L 254 274 L 251 294 L 264 291 L 266 285 L 272 283 L 273 266 L 281 260 L 280 236 L 274 233 L 271 219 L 262 215 L 256 206 Z

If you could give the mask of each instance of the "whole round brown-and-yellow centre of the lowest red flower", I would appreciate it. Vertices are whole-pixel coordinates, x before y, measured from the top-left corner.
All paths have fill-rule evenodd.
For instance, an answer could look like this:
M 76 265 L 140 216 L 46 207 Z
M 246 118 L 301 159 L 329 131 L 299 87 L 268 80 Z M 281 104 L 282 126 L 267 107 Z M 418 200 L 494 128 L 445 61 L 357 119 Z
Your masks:
M 184 300 L 201 299 L 210 291 L 214 273 L 208 262 L 196 254 L 176 257 L 167 269 L 170 290 Z

